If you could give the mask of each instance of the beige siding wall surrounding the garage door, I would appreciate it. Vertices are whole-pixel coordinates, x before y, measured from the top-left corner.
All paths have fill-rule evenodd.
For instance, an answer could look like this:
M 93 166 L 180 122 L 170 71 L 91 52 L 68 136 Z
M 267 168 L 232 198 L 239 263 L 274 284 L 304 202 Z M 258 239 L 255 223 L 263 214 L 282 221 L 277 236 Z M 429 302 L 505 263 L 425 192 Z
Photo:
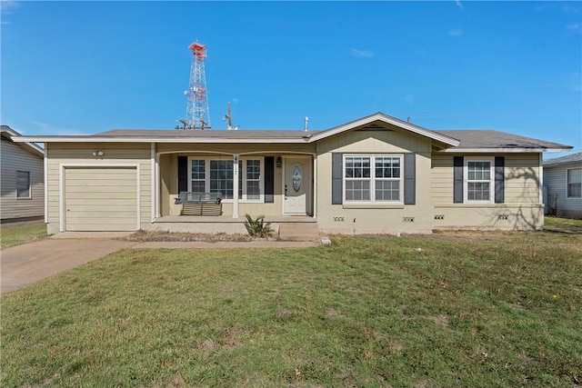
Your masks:
M 93 152 L 102 150 L 102 157 L 95 157 Z M 149 224 L 152 217 L 152 181 L 150 144 L 60 144 L 46 145 L 48 155 L 48 225 L 49 234 L 59 232 L 60 208 L 59 194 L 61 179 L 64 179 L 63 166 L 76 167 L 127 167 L 139 165 L 139 218 L 142 224 Z M 136 229 L 136 228 L 135 228 Z

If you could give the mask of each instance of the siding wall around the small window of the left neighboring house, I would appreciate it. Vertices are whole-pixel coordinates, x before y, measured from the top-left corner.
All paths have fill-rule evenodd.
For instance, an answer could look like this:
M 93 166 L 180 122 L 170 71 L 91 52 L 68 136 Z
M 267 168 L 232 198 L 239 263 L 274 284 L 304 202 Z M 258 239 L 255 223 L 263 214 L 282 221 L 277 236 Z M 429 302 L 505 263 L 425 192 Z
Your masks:
M 42 156 L 2 137 L 0 149 L 0 218 L 3 221 L 41 218 L 45 214 L 45 176 Z M 16 198 L 16 171 L 30 173 L 30 198 Z

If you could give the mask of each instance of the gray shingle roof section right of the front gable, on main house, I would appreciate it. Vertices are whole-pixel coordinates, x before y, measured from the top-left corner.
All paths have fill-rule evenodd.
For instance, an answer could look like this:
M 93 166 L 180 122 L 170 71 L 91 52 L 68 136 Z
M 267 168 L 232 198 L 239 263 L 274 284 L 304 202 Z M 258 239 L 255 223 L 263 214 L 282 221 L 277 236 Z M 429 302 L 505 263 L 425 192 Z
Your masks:
M 567 145 L 546 142 L 544 140 L 533 139 L 531 137 L 520 136 L 518 134 L 507 134 L 506 132 L 492 130 L 446 130 L 437 131 L 454 137 L 461 142 L 458 149 L 464 148 L 537 148 L 555 149 L 568 148 Z M 570 147 L 571 148 L 571 147 Z

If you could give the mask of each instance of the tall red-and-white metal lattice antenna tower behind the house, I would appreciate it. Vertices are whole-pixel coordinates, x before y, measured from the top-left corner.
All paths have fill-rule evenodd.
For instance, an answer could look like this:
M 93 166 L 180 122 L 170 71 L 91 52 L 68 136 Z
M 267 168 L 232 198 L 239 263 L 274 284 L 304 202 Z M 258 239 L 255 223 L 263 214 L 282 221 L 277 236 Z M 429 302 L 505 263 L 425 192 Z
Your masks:
M 198 42 L 189 45 L 192 50 L 192 65 L 190 66 L 190 85 L 184 92 L 187 98 L 186 119 L 180 120 L 182 129 L 209 129 L 210 112 L 208 109 L 208 90 L 206 89 L 206 74 L 204 60 L 206 45 Z

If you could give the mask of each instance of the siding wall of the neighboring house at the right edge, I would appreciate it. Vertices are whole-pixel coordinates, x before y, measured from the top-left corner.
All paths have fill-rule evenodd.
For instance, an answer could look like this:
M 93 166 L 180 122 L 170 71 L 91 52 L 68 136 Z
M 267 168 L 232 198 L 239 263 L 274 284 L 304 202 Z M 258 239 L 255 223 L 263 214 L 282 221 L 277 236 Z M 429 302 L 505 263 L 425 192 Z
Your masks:
M 544 167 L 544 186 L 547 196 L 556 195 L 556 215 L 582 218 L 582 198 L 567 198 L 567 170 L 582 168 L 582 164 Z

